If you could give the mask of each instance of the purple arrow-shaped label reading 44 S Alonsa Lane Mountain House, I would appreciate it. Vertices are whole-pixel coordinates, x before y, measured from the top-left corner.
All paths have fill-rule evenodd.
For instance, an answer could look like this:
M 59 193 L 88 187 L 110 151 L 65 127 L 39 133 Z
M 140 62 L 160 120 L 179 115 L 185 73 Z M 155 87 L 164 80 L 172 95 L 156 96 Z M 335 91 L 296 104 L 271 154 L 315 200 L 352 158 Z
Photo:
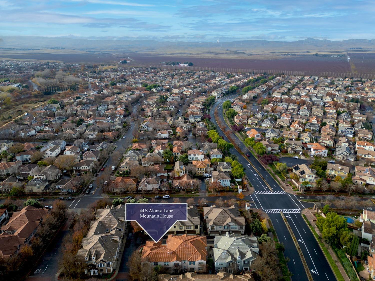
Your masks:
M 125 220 L 136 221 L 157 243 L 177 221 L 187 221 L 187 203 L 126 203 Z

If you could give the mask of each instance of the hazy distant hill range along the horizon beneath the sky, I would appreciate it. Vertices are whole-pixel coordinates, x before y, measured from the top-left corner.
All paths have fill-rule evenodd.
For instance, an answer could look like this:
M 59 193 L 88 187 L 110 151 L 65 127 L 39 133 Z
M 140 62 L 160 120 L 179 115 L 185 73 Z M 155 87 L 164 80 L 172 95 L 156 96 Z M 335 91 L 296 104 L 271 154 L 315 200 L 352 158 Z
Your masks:
M 293 42 L 268 40 L 242 40 L 232 42 L 168 42 L 156 40 L 121 40 L 117 37 L 97 40 L 71 37 L 0 36 L 0 48 L 14 49 L 73 49 L 94 52 L 141 52 L 171 54 L 184 52 L 196 54 L 275 54 L 342 53 L 375 51 L 375 39 L 350 39 L 342 41 L 307 38 Z M 61 51 L 63 53 L 63 50 Z

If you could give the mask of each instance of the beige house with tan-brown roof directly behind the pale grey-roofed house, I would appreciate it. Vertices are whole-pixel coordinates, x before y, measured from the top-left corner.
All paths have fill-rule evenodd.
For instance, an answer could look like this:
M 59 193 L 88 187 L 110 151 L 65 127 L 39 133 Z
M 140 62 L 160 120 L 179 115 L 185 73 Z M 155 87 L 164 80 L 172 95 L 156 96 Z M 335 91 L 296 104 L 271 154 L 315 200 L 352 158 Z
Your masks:
M 237 207 L 216 208 L 203 207 L 203 215 L 206 220 L 208 235 L 221 235 L 222 233 L 245 233 L 245 217 L 242 217 Z

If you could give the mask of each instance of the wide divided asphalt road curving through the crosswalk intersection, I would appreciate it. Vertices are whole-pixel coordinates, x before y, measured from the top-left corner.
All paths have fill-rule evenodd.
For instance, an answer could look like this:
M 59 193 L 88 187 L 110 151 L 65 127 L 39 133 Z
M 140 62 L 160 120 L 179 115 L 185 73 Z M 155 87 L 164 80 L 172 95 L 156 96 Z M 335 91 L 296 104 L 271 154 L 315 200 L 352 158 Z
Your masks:
M 235 97 L 236 95 L 226 96 L 226 99 Z M 222 114 L 222 99 L 211 108 L 211 116 L 214 116 L 215 119 L 211 121 L 216 123 L 216 120 L 222 120 L 222 123 L 226 124 L 223 119 Z M 215 109 L 218 108 L 217 115 L 214 115 Z M 227 125 L 226 125 L 227 126 Z M 228 126 L 227 126 L 228 127 Z M 228 128 L 229 129 L 229 128 Z M 230 130 L 230 129 L 229 129 Z M 229 141 L 228 138 L 224 135 L 222 130 L 217 126 L 217 132 L 220 136 L 226 141 Z M 236 144 L 240 149 L 249 153 L 248 148 L 237 138 L 236 135 L 232 134 L 232 137 L 235 139 Z M 312 206 L 311 203 L 300 202 L 296 196 L 291 196 L 290 194 L 285 193 L 279 184 L 273 179 L 273 177 L 267 172 L 266 169 L 258 162 L 258 160 L 250 154 L 250 157 L 244 157 L 236 149 L 230 149 L 232 154 L 237 155 L 239 162 L 245 167 L 245 173 L 249 178 L 249 181 L 255 188 L 254 194 L 247 196 L 246 199 L 250 199 L 255 202 L 256 208 L 263 209 L 267 214 L 270 215 L 273 225 L 275 226 L 276 234 L 278 235 L 279 241 L 283 242 L 285 245 L 285 256 L 290 258 L 288 262 L 288 268 L 293 273 L 293 280 L 308 280 L 305 270 L 302 265 L 302 261 L 297 253 L 297 249 L 294 245 L 294 242 L 282 221 L 281 211 L 288 216 L 290 221 L 291 228 L 299 240 L 299 245 L 303 251 L 306 263 L 312 272 L 314 280 L 336 280 L 335 275 L 330 268 L 326 258 L 324 257 L 323 252 L 320 250 L 320 247 L 315 240 L 313 234 L 307 227 L 305 221 L 303 220 L 302 215 L 300 214 L 301 210 Z M 296 159 L 297 160 L 297 159 Z M 264 180 L 258 175 L 258 172 L 251 166 L 251 162 L 258 172 L 263 176 L 267 183 L 271 186 L 273 191 L 270 191 L 267 187 Z M 250 198 L 249 198 L 250 197 Z

